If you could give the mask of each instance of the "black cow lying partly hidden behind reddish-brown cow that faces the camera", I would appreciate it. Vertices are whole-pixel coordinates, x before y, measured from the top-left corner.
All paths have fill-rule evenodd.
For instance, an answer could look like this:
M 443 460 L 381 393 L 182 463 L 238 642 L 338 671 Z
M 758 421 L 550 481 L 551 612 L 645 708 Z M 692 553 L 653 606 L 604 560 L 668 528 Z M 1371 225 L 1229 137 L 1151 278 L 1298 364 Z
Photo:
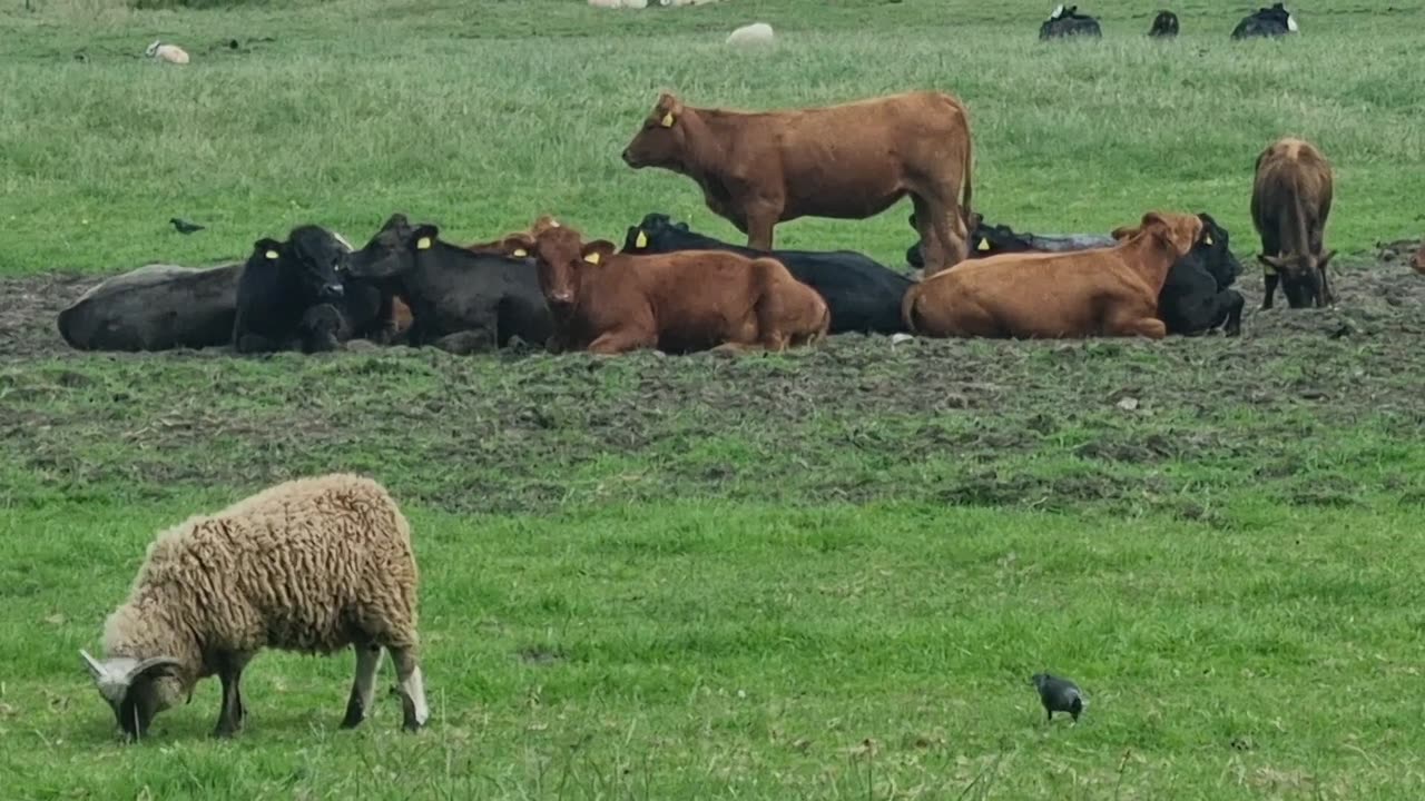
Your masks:
M 626 254 L 673 251 L 730 251 L 748 257 L 771 255 L 797 281 L 815 289 L 831 311 L 831 334 L 905 332 L 901 301 L 912 281 L 868 257 L 852 251 L 778 251 L 771 254 L 732 245 L 695 234 L 687 222 L 673 222 L 667 214 L 648 214 L 628 228 Z

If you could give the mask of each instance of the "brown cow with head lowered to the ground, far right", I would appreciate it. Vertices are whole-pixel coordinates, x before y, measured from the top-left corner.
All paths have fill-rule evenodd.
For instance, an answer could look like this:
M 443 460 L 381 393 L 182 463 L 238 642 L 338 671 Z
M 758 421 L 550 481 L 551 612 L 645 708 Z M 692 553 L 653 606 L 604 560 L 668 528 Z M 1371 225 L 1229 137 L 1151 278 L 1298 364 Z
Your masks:
M 1265 269 L 1261 308 L 1271 308 L 1278 282 L 1290 308 L 1335 302 L 1327 279 L 1335 251 L 1322 254 L 1331 184 L 1331 164 L 1310 143 L 1281 138 L 1257 157 L 1251 219 L 1261 237 L 1257 259 Z

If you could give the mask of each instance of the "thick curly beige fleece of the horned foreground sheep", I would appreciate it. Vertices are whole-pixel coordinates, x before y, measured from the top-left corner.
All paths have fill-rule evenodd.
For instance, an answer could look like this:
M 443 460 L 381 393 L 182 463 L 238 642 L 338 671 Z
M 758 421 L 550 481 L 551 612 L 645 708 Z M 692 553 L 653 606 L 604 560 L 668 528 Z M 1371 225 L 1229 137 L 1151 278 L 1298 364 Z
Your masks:
M 298 479 L 162 532 L 104 648 L 188 664 L 262 647 L 331 653 L 353 637 L 415 648 L 418 579 L 410 524 L 385 487 Z

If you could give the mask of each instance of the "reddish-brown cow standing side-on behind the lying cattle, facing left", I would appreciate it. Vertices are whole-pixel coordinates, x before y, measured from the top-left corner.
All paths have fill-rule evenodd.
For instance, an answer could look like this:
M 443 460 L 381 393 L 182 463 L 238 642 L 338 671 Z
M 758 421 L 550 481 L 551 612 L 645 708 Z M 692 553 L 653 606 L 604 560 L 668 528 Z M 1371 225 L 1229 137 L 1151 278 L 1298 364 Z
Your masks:
M 864 219 L 911 195 L 925 275 L 966 257 L 969 115 L 945 93 L 755 114 L 694 108 L 663 94 L 623 158 L 634 170 L 661 167 L 697 181 L 708 208 L 758 251 L 772 249 L 778 222 Z

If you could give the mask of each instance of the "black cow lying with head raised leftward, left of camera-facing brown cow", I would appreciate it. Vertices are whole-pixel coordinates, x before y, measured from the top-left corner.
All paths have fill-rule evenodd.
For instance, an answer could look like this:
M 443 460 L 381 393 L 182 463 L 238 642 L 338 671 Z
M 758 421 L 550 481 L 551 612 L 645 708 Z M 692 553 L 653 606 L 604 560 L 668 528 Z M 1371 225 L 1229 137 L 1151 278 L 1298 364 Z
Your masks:
M 393 214 L 352 254 L 352 275 L 410 306 L 410 345 L 452 353 L 504 348 L 513 336 L 544 346 L 554 332 L 534 262 L 475 254 L 440 241 L 435 225 Z

